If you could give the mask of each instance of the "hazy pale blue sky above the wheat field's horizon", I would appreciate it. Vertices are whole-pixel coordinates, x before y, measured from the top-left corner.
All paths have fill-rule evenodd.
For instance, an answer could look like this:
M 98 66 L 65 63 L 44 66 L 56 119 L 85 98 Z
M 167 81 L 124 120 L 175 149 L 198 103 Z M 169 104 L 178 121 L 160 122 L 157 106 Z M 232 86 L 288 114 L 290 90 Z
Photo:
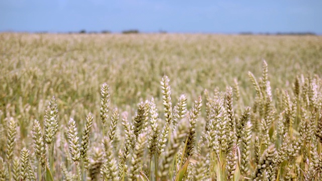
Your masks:
M 314 32 L 321 0 L 0 0 L 0 31 Z

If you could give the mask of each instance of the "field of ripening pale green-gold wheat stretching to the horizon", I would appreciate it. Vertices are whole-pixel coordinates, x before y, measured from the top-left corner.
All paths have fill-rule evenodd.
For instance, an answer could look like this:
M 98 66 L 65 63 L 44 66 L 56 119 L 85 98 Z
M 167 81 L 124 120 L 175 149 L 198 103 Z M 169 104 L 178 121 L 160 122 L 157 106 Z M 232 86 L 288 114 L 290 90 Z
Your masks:
M 0 180 L 322 180 L 322 37 L 0 34 Z

